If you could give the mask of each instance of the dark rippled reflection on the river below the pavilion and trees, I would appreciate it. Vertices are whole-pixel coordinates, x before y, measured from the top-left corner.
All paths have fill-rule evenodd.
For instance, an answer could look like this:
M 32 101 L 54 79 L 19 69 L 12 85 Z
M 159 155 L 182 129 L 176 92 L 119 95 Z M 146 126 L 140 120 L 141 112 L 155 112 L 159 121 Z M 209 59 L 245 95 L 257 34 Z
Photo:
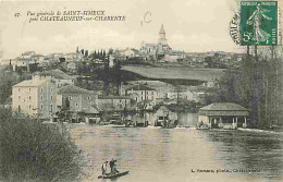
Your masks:
M 260 171 L 248 175 L 260 175 L 269 181 L 283 180 L 282 134 L 213 131 L 207 135 L 219 148 L 216 159 L 225 161 L 226 168 L 257 169 Z

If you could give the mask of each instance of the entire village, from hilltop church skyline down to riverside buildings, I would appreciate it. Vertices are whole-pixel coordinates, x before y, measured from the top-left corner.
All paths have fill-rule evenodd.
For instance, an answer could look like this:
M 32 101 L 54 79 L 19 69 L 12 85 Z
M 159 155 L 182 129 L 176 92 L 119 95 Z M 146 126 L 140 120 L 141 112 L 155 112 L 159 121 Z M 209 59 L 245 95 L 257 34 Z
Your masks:
M 3 105 L 45 121 L 193 126 L 199 122 L 196 113 L 206 106 L 206 97 L 219 89 L 219 78 L 223 74 L 195 84 L 177 84 L 180 81 L 174 80 L 174 75 L 171 82 L 135 73 L 132 77 L 133 72 L 125 74 L 121 68 L 186 68 L 206 72 L 206 69 L 237 69 L 242 59 L 241 53 L 173 50 L 162 25 L 158 43 L 142 43 L 139 49 L 89 52 L 77 47 L 75 52 L 42 56 L 28 51 L 15 59 L 2 60 L 1 66 L 7 72 L 28 75 L 28 80 L 13 85 L 12 101 Z M 182 112 L 190 114 L 184 117 Z M 212 119 L 208 120 L 211 125 Z M 222 122 L 221 118 L 214 120 Z M 242 120 L 244 123 L 244 118 Z M 233 118 L 234 122 L 237 118 L 235 121 Z

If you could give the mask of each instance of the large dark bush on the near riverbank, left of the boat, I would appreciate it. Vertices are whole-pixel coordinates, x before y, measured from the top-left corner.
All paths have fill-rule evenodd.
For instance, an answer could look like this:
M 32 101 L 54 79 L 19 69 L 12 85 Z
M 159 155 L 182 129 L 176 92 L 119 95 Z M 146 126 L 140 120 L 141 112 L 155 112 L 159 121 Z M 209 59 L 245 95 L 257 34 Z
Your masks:
M 63 125 L 0 109 L 0 181 L 76 181 L 84 160 Z

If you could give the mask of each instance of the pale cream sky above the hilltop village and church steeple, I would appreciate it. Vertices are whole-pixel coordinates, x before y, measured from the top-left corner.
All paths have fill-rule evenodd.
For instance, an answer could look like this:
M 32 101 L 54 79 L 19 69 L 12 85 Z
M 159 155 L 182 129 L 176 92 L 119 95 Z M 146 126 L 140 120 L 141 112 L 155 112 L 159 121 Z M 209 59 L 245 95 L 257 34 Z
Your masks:
M 237 51 L 241 48 L 229 34 L 235 9 L 235 0 L 0 1 L 0 58 L 15 58 L 25 51 L 74 52 L 77 46 L 90 52 L 101 48 L 139 49 L 142 41 L 157 43 L 161 24 L 174 50 Z M 89 10 L 126 19 L 123 22 L 29 23 L 27 15 L 28 11 Z

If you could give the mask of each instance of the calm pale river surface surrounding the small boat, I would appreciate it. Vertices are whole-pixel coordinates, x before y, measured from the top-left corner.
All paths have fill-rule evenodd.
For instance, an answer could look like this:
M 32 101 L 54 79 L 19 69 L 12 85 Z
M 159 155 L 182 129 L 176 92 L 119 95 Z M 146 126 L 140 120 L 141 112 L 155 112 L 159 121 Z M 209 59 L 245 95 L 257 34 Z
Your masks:
M 97 179 L 101 163 L 111 158 L 121 171 L 131 171 L 116 182 L 283 181 L 282 134 L 83 124 L 71 130 L 87 155 L 86 182 L 111 181 Z M 241 169 L 257 171 L 235 172 Z

